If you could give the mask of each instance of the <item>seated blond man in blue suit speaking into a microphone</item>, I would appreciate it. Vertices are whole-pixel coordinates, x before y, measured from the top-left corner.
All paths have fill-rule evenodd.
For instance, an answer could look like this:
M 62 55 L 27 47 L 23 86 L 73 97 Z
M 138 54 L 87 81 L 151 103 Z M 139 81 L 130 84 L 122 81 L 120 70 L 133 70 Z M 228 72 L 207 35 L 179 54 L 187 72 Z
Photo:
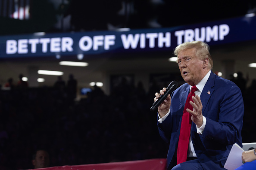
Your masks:
M 174 54 L 187 83 L 168 95 L 158 107 L 159 134 L 169 143 L 167 169 L 223 170 L 232 145 L 237 143 L 242 147 L 244 102 L 241 91 L 233 82 L 212 73 L 213 61 L 206 43 L 183 43 L 176 47 Z M 193 107 L 184 109 L 192 86 L 197 87 L 189 103 Z M 156 93 L 154 101 L 165 91 L 163 88 Z M 176 165 L 183 112 L 191 114 L 192 123 L 190 135 L 187 135 L 187 158 Z

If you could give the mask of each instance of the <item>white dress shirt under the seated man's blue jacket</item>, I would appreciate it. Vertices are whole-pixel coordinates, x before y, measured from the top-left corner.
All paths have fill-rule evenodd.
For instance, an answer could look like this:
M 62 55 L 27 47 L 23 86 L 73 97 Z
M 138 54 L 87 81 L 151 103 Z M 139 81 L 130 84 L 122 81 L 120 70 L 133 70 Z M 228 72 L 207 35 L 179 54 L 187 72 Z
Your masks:
M 209 79 L 209 76 L 211 74 L 211 71 L 209 71 L 206 76 L 204 76 L 204 78 L 201 80 L 201 82 L 199 82 L 196 87 L 197 87 L 197 91 L 195 91 L 195 95 L 198 95 L 200 97 L 202 91 L 203 91 L 203 88 L 204 88 L 204 85 L 206 84 L 207 80 Z M 191 88 L 192 86 L 190 85 L 190 91 L 191 91 Z M 170 113 L 170 110 L 169 112 L 163 116 L 162 118 L 160 118 L 159 114 L 158 114 L 158 117 L 159 117 L 159 120 L 158 122 L 159 123 L 162 123 L 162 121 L 165 120 L 165 118 L 169 115 Z M 203 133 L 203 130 L 204 130 L 204 127 L 206 125 L 206 118 L 203 116 L 203 125 L 201 127 L 197 127 L 197 134 L 202 134 Z M 188 157 L 197 157 L 196 153 L 195 153 L 195 150 L 194 150 L 194 146 L 193 146 L 193 143 L 192 143 L 192 140 L 191 140 L 191 133 L 190 133 L 190 138 L 189 138 L 189 145 L 188 145 L 188 149 L 187 149 L 187 156 Z

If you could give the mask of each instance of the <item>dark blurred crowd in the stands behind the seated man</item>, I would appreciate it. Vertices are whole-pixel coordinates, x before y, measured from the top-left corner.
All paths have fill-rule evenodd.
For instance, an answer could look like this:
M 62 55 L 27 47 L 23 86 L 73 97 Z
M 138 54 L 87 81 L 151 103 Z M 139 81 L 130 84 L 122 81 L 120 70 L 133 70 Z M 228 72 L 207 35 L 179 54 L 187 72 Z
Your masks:
M 243 143 L 256 142 L 256 80 L 248 88 L 247 80 L 245 86 L 232 81 L 242 84 Z M 121 81 L 109 95 L 95 85 L 80 100 L 63 82 L 0 90 L 0 169 L 33 169 L 38 149 L 47 150 L 51 167 L 165 158 L 168 144 L 158 134 L 156 112 L 150 112 L 161 88 L 152 84 L 146 91 L 141 82 Z

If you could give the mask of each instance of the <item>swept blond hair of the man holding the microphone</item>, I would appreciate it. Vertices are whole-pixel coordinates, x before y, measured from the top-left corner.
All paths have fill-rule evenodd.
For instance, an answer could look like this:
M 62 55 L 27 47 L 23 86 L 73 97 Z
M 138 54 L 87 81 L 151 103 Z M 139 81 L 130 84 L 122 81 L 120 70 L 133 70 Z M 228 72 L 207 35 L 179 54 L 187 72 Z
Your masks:
M 185 49 L 193 49 L 196 48 L 196 56 L 201 59 L 204 60 L 206 58 L 208 58 L 208 67 L 210 70 L 212 70 L 213 67 L 213 60 L 212 60 L 212 56 L 209 53 L 209 45 L 202 42 L 202 41 L 191 41 L 191 42 L 186 42 L 183 44 L 180 44 L 179 46 L 177 46 L 174 50 L 174 55 L 178 56 L 178 53 L 185 50 Z

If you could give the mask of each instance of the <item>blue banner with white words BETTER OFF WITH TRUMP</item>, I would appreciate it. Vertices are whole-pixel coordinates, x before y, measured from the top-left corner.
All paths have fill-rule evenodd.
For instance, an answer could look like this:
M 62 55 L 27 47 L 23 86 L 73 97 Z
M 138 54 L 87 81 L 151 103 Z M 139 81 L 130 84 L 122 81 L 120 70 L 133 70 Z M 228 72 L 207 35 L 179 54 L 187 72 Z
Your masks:
M 177 45 L 193 40 L 211 46 L 252 39 L 256 39 L 255 16 L 159 29 L 0 36 L 0 58 L 172 52 Z

